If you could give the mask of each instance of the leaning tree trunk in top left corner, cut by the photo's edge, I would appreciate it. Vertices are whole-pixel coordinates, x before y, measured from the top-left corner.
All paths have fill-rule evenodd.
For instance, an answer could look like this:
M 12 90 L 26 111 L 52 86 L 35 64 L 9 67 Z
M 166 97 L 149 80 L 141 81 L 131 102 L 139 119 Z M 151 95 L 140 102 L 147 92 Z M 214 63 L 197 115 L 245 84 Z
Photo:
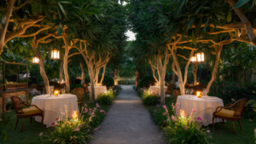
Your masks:
M 0 28 L 0 55 L 2 54 L 3 47 L 5 45 L 5 35 L 9 26 L 9 18 L 12 16 L 13 13 L 14 5 L 15 0 L 9 0 L 9 3 L 4 11 L 3 19 L 0 21 L 0 24 L 4 26 L 3 29 Z

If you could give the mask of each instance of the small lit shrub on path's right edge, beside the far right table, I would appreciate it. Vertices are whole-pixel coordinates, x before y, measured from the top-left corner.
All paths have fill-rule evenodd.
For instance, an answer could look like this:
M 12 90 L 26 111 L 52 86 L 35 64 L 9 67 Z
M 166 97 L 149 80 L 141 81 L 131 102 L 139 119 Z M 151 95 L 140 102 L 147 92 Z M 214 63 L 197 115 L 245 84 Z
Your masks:
M 150 93 L 149 90 L 143 90 L 143 104 L 146 106 L 160 104 L 160 96 L 158 94 Z

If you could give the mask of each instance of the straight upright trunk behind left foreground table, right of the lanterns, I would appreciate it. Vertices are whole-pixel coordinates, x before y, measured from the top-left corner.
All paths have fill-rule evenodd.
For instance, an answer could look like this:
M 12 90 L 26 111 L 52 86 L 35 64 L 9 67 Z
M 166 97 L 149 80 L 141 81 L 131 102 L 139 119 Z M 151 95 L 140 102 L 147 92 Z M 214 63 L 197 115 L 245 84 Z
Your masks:
M 65 55 L 63 57 L 63 70 L 64 70 L 64 75 L 65 75 L 66 92 L 68 94 L 70 92 L 70 84 L 69 84 L 69 76 L 68 76 L 68 72 L 67 72 L 67 63 L 68 63 L 68 53 L 69 53 L 70 46 L 68 45 L 67 37 L 63 37 L 63 40 L 64 40 L 65 47 L 66 47 Z M 73 44 L 71 44 L 71 45 L 73 45 Z

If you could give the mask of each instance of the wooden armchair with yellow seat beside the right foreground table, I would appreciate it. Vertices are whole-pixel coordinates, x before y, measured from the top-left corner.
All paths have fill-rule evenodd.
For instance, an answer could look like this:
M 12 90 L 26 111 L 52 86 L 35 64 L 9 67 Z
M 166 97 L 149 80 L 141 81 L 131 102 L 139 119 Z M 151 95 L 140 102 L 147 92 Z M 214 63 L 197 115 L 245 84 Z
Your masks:
M 234 121 L 238 121 L 241 128 L 241 113 L 247 103 L 247 99 L 241 99 L 234 104 L 227 104 L 226 107 L 217 107 L 216 111 L 212 113 L 212 125 L 214 127 L 214 118 L 222 118 L 233 122 L 234 133 L 236 134 L 236 128 Z M 230 110 L 229 110 L 230 109 Z M 242 129 L 241 129 L 242 130 Z

